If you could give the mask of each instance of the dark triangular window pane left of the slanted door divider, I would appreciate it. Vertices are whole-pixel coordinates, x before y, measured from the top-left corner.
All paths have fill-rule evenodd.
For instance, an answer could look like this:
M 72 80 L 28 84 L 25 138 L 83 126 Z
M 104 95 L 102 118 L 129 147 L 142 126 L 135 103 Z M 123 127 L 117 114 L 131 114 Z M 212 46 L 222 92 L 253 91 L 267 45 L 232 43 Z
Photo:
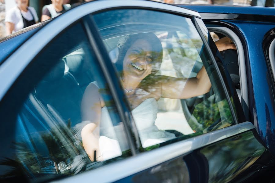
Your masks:
M 17 112 L 14 120 L 8 121 L 9 115 L 3 120 L 4 180 L 74 175 L 131 155 L 88 40 L 81 23 L 68 28 L 35 57 L 10 91 L 16 95 L 7 100 Z

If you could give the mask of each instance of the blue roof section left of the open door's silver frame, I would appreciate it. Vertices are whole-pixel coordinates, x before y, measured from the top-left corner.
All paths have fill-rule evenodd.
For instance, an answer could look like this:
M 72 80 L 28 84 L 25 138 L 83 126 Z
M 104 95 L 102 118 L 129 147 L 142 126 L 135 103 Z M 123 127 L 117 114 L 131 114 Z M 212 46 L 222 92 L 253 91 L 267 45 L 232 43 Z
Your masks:
M 48 22 L 36 23 L 0 39 L 0 64 Z

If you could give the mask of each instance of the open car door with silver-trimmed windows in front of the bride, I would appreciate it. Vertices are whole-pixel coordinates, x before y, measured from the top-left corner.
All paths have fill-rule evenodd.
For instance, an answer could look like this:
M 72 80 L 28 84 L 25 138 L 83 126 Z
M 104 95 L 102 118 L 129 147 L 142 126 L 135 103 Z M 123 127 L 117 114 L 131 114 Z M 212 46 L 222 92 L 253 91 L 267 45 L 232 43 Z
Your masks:
M 29 176 L 27 179 L 38 180 L 39 177 L 45 178 L 45 174 L 51 173 L 48 177 L 54 179 L 60 174 L 65 174 L 72 176 L 57 181 L 71 182 L 91 180 L 97 182 L 228 182 L 259 178 L 269 170 L 273 157 L 261 144 L 253 124 L 242 120 L 244 117 L 239 108 L 240 102 L 236 99 L 236 95 L 234 96 L 235 91 L 232 89 L 233 86 L 230 84 L 226 70 L 222 69 L 221 61 L 216 60 L 213 55 L 218 54 L 217 48 L 208 36 L 199 14 L 157 2 L 144 1 L 142 5 L 140 3 L 140 1 L 96 1 L 78 6 L 54 19 L 22 45 L 10 59 L 3 63 L 5 70 L 2 64 L 1 76 L 7 78 L 7 81 L 3 82 L 1 91 L 1 96 L 5 95 L 1 101 L 1 117 L 4 119 L 1 129 L 9 130 L 9 133 L 6 131 L 1 133 L 1 138 L 6 140 L 2 149 L 7 149 L 10 143 L 9 138 L 13 139 L 14 134 L 21 131 L 25 137 L 22 142 L 20 141 L 21 144 L 23 143 L 36 153 L 36 155 L 31 153 L 30 157 L 33 159 L 30 160 L 42 164 L 39 164 L 39 170 L 37 167 L 31 167 L 31 162 L 25 162 L 26 159 L 22 158 L 25 155 L 19 151 L 22 148 L 17 147 L 9 151 L 14 152 L 17 159 L 2 163 L 2 166 L 8 167 L 4 167 L 4 170 L 14 167 L 11 163 L 13 162 L 20 164 L 20 168 L 16 170 L 24 178 L 27 174 Z M 73 17 L 70 22 L 64 21 L 69 17 Z M 83 19 L 80 19 L 82 17 Z M 77 21 L 79 19 L 80 21 Z M 73 24 L 74 22 L 76 23 Z M 147 144 L 143 143 L 144 139 L 148 140 L 148 138 L 146 139 L 145 133 L 140 130 L 139 118 L 134 115 L 127 101 L 115 65 L 117 43 L 121 43 L 120 38 L 141 33 L 152 33 L 159 36 L 158 38 L 166 36 L 162 40 L 162 47 L 165 48 L 163 52 L 166 52 L 169 67 L 164 65 L 160 68 L 161 74 L 166 73 L 169 76 L 173 73 L 174 77 L 179 78 L 194 77 L 200 67 L 205 66 L 212 84 L 211 92 L 196 97 L 195 109 L 185 108 L 186 111 L 189 110 L 191 120 L 186 119 L 187 115 L 185 116 L 183 112 L 186 101 L 171 102 L 165 98 L 159 99 L 156 119 L 162 126 L 158 125 L 156 132 L 173 137 L 157 139 L 158 141 L 150 140 Z M 47 37 L 39 43 L 32 42 L 41 38 L 42 35 L 47 35 Z M 167 38 L 168 35 L 171 38 Z M 28 45 L 31 44 L 36 44 L 36 47 L 32 48 L 33 52 L 24 55 Z M 60 52 L 55 53 L 56 50 Z M 182 57 L 180 57 L 182 54 L 185 60 L 189 61 L 188 64 L 182 63 Z M 178 57 L 179 62 L 174 62 L 173 58 Z M 12 62 L 16 58 L 22 60 L 18 65 Z M 109 156 L 110 158 L 101 162 L 89 162 L 91 157 L 87 157 L 82 144 L 79 144 L 79 137 L 70 129 L 71 124 L 79 120 L 77 119 L 79 116 L 73 115 L 79 111 L 79 108 L 71 104 L 65 107 L 58 105 L 61 101 L 62 103 L 68 102 L 66 99 L 80 98 L 81 100 L 81 90 L 86 88 L 85 84 L 83 88 L 80 87 L 81 81 L 84 80 L 79 79 L 76 72 L 78 67 L 74 67 L 75 63 L 79 63 L 76 58 L 85 58 L 90 63 L 85 65 L 86 69 L 90 69 L 85 78 L 92 75 L 88 83 L 94 81 L 99 83 L 98 88 L 103 91 L 102 95 L 105 95 L 103 99 L 110 104 L 108 111 L 112 117 L 112 126 L 116 129 L 122 125 L 124 126 L 122 129 L 125 129 L 115 131 L 116 138 L 112 136 L 118 142 L 121 154 Z M 73 60 L 72 66 L 71 60 Z M 67 74 L 64 74 L 65 68 L 67 68 Z M 13 70 L 14 74 L 9 74 L 9 70 Z M 86 70 L 80 73 L 86 73 Z M 37 77 L 33 77 L 34 75 Z M 56 79 L 56 77 L 61 78 Z M 31 78 L 34 78 L 34 81 L 30 80 Z M 70 81 L 69 89 L 64 84 L 67 81 Z M 73 82 L 76 82 L 74 85 L 76 88 L 71 90 Z M 10 85 L 12 85 L 11 88 Z M 48 88 L 52 89 L 48 91 Z M 60 88 L 63 90 L 61 91 Z M 22 92 L 18 94 L 18 91 Z M 64 99 L 63 94 L 71 97 Z M 31 105 L 27 102 L 31 102 Z M 167 104 L 171 103 L 173 106 L 167 108 Z M 33 106 L 36 112 L 40 113 L 34 115 L 29 106 Z M 37 126 L 42 127 L 26 125 L 34 120 L 27 117 L 24 110 L 31 113 L 31 117 L 38 121 Z M 142 115 L 145 114 L 142 113 Z M 41 118 L 46 122 L 39 120 Z M 174 125 L 180 124 L 180 127 L 171 126 L 168 122 Z M 150 127 L 155 126 L 153 124 Z M 30 135 L 30 131 L 36 132 L 37 128 L 43 129 L 39 130 L 40 132 L 46 131 L 48 136 L 54 137 L 53 141 L 57 145 L 49 147 L 45 143 L 40 143 L 41 134 L 39 136 L 31 133 Z M 38 143 L 30 140 L 31 137 L 37 137 Z M 42 147 L 37 148 L 36 144 Z M 128 148 L 125 146 L 123 148 L 122 144 L 127 144 Z M 50 153 L 49 149 L 56 151 Z M 7 158 L 6 151 L 3 154 L 1 157 Z M 37 154 L 42 154 L 42 156 L 37 156 Z M 79 158 L 84 162 L 79 161 Z M 41 173 L 41 170 L 45 170 L 41 167 L 48 165 L 47 163 L 51 165 L 49 170 L 57 173 L 53 174 L 48 169 Z M 59 163 L 60 166 L 58 166 Z M 72 167 L 79 166 L 80 169 L 72 169 Z M 75 171 L 66 173 L 66 170 Z M 80 172 L 85 173 L 78 174 Z M 7 175 L 4 177 L 6 180 L 14 178 L 12 173 Z

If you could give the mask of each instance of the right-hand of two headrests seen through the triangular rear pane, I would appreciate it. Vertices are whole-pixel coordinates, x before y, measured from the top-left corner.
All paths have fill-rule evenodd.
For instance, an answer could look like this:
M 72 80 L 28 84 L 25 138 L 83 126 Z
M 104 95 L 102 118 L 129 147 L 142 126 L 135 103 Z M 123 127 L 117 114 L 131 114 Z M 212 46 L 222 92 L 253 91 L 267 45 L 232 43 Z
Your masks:
M 73 75 L 77 75 L 81 72 L 84 58 L 81 55 L 69 55 L 65 59 L 69 72 Z

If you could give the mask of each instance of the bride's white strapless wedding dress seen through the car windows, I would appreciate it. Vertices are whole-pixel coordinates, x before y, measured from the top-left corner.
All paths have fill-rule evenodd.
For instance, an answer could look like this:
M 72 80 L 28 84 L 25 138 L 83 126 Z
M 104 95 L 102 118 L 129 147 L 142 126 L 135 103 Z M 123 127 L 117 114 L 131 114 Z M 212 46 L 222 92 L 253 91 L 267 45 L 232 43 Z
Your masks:
M 93 83 L 98 87 L 96 82 Z M 157 112 L 158 104 L 155 98 L 146 99 L 131 112 L 144 148 L 175 138 L 174 134 L 156 127 Z M 127 136 L 122 122 L 113 126 L 106 106 L 101 108 L 101 120 L 97 130 L 99 130 L 99 148 L 103 160 L 121 156 L 123 151 L 130 149 L 125 140 Z

